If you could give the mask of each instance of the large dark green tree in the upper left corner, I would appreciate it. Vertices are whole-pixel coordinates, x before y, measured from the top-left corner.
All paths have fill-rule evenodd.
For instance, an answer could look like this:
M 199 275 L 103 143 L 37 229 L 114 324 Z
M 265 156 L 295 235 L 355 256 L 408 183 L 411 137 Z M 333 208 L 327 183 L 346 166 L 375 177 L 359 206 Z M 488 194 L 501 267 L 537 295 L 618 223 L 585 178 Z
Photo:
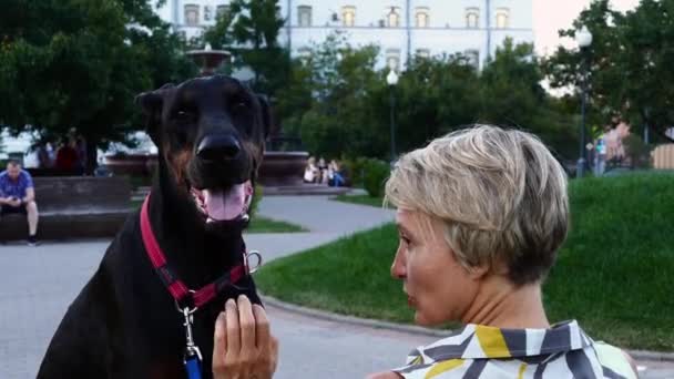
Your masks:
M 96 147 L 136 129 L 133 98 L 191 76 L 182 44 L 146 2 L 8 0 L 0 14 L 0 122 L 43 139 L 74 127 Z

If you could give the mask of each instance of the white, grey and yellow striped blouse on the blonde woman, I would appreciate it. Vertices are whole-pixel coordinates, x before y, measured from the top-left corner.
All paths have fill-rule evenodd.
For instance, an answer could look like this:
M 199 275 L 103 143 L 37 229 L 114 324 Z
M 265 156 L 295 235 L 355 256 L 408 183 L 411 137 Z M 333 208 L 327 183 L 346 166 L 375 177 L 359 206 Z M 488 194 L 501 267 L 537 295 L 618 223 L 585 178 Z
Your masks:
M 550 329 L 469 324 L 412 350 L 394 371 L 407 379 L 636 378 L 620 349 L 593 341 L 575 320 Z

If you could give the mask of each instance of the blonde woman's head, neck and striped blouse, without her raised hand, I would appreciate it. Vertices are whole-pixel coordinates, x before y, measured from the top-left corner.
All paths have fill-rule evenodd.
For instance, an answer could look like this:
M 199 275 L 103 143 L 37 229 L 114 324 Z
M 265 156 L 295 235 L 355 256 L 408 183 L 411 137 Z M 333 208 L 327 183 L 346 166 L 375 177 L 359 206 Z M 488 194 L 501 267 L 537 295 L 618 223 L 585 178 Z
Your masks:
M 631 358 L 575 320 L 550 325 L 541 284 L 564 242 L 564 171 L 533 135 L 477 126 L 404 155 L 386 184 L 419 325 L 460 321 L 384 378 L 635 378 Z

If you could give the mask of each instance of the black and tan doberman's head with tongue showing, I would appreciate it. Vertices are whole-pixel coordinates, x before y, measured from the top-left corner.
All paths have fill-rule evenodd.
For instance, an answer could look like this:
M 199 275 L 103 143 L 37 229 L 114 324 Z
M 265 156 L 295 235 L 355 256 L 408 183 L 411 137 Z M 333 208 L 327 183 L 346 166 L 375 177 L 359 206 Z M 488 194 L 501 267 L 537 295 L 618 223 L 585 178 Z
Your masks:
M 247 213 L 269 130 L 267 102 L 237 80 L 208 76 L 136 96 L 175 185 L 208 227 Z

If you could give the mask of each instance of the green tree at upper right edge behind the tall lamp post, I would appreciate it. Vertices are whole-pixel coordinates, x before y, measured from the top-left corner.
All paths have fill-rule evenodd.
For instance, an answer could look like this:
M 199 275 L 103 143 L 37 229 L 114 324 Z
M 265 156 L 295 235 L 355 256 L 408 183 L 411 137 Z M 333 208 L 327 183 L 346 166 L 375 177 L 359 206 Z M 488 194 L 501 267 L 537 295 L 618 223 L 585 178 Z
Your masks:
M 674 0 L 642 0 L 626 13 L 611 9 L 609 0 L 595 0 L 575 19 L 573 29 L 560 32 L 574 37 L 586 25 L 593 34 L 588 54 L 559 48 L 544 62 L 545 73 L 553 86 L 580 88 L 581 74 L 589 70 L 594 124 L 620 116 L 665 137 L 674 124 L 674 89 L 663 85 L 674 79 L 673 18 Z

